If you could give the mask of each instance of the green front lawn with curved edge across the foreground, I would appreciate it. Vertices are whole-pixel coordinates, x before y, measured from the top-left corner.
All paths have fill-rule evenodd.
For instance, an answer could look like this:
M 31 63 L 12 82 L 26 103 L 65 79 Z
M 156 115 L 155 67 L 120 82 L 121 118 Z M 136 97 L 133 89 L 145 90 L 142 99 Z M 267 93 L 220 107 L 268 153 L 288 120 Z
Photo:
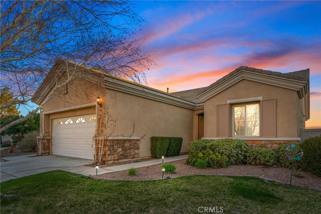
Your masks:
M 0 185 L 15 195 L 2 198 L 1 213 L 321 213 L 321 192 L 248 177 L 103 181 L 53 171 Z

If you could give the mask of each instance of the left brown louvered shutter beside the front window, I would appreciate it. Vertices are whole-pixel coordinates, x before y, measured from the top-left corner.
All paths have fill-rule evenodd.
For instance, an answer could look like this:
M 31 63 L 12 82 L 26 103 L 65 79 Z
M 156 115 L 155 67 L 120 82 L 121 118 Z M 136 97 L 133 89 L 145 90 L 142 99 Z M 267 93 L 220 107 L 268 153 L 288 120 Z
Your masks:
M 217 106 L 217 137 L 229 137 L 228 104 Z

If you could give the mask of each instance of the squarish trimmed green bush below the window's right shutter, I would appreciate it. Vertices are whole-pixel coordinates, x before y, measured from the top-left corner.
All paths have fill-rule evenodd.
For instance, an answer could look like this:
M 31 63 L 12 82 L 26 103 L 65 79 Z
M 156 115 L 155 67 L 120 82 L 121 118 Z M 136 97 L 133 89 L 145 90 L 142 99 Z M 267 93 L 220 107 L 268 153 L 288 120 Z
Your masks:
M 252 148 L 247 153 L 246 163 L 273 166 L 276 164 L 276 154 L 270 149 Z

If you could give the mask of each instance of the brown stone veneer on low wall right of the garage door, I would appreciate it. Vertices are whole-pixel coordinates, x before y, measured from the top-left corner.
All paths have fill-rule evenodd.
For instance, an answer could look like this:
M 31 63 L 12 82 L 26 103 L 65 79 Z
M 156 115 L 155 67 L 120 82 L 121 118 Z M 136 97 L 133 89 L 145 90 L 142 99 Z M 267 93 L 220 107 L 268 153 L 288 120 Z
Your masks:
M 99 149 L 101 150 L 102 146 L 101 159 L 99 155 L 97 155 L 96 162 L 103 164 L 119 160 L 139 158 L 139 142 L 140 139 L 136 138 L 105 138 L 102 146 L 102 140 L 95 139 L 96 154 L 99 154 Z

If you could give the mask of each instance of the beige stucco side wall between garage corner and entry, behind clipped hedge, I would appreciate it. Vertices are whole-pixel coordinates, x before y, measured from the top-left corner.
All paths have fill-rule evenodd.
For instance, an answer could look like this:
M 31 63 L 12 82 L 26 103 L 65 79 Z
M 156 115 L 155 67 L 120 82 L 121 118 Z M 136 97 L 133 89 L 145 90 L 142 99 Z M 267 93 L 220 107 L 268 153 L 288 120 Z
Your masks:
M 182 137 L 181 152 L 193 140 L 193 111 L 179 106 L 131 95 L 107 91 L 107 136 L 143 137 L 139 156 L 150 156 L 150 137 Z

